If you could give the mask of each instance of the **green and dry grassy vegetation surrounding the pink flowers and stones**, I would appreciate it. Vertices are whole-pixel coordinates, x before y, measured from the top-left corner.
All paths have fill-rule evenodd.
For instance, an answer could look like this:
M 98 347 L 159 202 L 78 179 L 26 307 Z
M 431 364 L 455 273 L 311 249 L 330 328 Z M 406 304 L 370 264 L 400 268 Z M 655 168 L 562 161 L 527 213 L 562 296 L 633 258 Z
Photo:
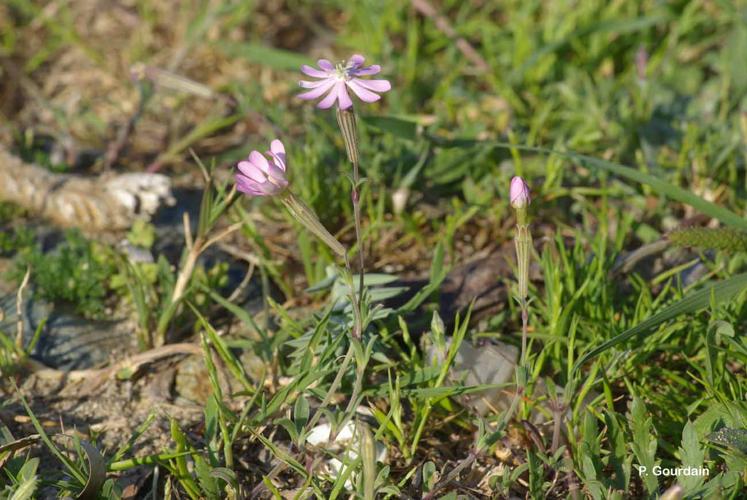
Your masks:
M 41 333 L 27 331 L 19 345 L 11 323 L 0 336 L 0 497 L 117 498 L 131 484 L 137 495 L 180 498 L 655 498 L 674 484 L 693 498 L 741 495 L 744 250 L 713 250 L 724 247 L 718 235 L 683 249 L 667 235 L 683 225 L 747 229 L 747 5 L 106 4 L 0 6 L 3 145 L 56 171 L 170 175 L 203 200 L 189 208 L 177 196 L 194 241 L 234 229 L 223 250 L 249 255 L 241 273 L 254 273 L 263 307 L 231 296 L 225 255 L 206 253 L 174 293 L 195 245 L 180 239 L 169 254 L 158 227 L 128 235 L 155 255 L 138 264 L 97 235 L 45 247 L 44 223 L 3 207 L 3 280 L 14 290 L 30 265 L 30 286 L 46 300 L 87 318 L 133 318 L 139 349 L 194 342 L 211 390 L 200 414 L 158 408 L 119 442 L 96 446 L 104 436 L 94 420 L 71 423 L 72 434 L 36 417 L 67 414 L 31 382 L 28 353 Z M 378 273 L 369 283 L 379 283 L 370 299 L 381 308 L 356 363 L 340 370 L 348 315 L 333 255 L 278 203 L 226 196 L 232 165 L 281 137 L 294 190 L 354 242 L 334 113 L 294 99 L 301 64 L 352 53 L 381 64 L 393 90 L 358 109 L 366 251 Z M 109 166 L 123 130 L 126 146 Z M 207 185 L 196 158 L 212 172 Z M 460 342 L 520 343 L 513 276 L 470 271 L 506 291 L 483 315 L 440 307 L 439 286 L 477 257 L 513 262 L 508 185 L 517 174 L 533 192 L 532 383 L 505 421 L 502 408 L 478 415 L 463 404 L 469 389 L 449 375 Z M 427 283 L 414 301 L 400 295 Z M 147 378 L 118 361 L 107 384 Z M 479 389 L 510 395 L 513 383 Z M 357 437 L 311 445 L 324 422 L 352 422 Z M 162 439 L 148 444 L 148 429 Z M 655 464 L 710 474 L 639 476 L 636 466 Z

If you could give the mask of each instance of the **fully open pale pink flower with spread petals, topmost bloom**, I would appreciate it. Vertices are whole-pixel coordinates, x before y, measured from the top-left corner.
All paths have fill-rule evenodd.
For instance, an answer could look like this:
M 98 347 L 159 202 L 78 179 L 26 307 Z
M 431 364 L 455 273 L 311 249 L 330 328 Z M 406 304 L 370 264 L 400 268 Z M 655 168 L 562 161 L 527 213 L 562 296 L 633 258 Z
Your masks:
M 317 107 L 327 109 L 332 107 L 335 101 L 338 101 L 340 109 L 348 109 L 353 105 L 346 88 L 348 87 L 362 101 L 378 101 L 381 96 L 376 92 L 387 92 L 391 90 L 392 86 L 387 80 L 362 80 L 358 78 L 375 75 L 381 71 L 381 66 L 377 64 L 363 66 L 363 61 L 365 61 L 365 58 L 362 55 L 355 54 L 349 61 L 343 61 L 337 65 L 333 65 L 327 59 L 319 59 L 317 64 L 321 69 L 306 65 L 301 66 L 301 71 L 313 78 L 319 78 L 319 80 L 312 82 L 301 80 L 298 82 L 301 87 L 311 89 L 299 94 L 298 97 L 311 100 L 326 93 L 327 96 L 317 104 Z

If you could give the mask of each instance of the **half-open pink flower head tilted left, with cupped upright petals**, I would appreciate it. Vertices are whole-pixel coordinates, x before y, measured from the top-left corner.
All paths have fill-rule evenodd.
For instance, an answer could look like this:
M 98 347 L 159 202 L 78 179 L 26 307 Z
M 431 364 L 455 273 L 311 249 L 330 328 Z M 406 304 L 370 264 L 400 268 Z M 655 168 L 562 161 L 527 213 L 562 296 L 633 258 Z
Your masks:
M 266 154 L 272 162 L 259 151 L 252 151 L 246 160 L 239 162 L 236 189 L 251 196 L 273 196 L 288 187 L 283 143 L 275 139 Z

